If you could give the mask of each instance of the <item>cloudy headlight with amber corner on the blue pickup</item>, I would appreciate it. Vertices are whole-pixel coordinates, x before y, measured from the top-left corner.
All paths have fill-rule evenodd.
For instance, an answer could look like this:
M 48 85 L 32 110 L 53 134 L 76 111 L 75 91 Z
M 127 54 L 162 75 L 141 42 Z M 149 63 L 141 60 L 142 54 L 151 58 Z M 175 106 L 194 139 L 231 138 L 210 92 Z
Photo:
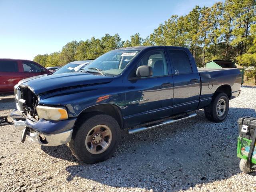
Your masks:
M 40 119 L 60 121 L 68 118 L 68 112 L 60 107 L 36 106 L 36 111 Z

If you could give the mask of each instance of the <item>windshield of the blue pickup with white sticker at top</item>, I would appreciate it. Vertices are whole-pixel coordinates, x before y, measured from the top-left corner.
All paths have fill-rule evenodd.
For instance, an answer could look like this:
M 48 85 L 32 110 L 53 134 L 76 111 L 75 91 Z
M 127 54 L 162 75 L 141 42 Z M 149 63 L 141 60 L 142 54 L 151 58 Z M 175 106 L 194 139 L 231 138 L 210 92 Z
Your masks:
M 81 72 L 102 72 L 102 74 L 118 75 L 136 56 L 138 50 L 113 50 L 98 57 L 80 69 Z

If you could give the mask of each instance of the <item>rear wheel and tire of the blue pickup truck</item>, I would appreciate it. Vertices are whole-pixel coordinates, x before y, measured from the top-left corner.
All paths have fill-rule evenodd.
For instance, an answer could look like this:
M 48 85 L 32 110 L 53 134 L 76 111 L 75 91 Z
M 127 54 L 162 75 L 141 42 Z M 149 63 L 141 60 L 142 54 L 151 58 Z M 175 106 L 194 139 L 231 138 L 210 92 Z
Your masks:
M 225 106 L 225 109 L 223 107 Z M 204 115 L 213 122 L 222 122 L 226 119 L 229 110 L 229 100 L 226 93 L 219 93 L 207 108 L 204 108 Z

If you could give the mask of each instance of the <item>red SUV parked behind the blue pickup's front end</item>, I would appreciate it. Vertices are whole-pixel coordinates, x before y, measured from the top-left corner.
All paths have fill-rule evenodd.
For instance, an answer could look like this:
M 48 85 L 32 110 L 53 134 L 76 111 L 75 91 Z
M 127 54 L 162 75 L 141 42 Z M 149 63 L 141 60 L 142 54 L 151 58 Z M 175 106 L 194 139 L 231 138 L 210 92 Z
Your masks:
M 11 93 L 20 80 L 52 73 L 40 64 L 29 60 L 0 59 L 0 93 Z

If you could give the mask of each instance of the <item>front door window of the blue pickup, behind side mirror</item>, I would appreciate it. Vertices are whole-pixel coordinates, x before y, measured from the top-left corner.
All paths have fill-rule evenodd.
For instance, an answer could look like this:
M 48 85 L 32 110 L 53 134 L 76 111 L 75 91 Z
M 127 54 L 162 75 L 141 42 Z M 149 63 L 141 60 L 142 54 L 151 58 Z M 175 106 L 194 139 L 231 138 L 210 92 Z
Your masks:
M 142 65 L 148 65 L 152 67 L 152 70 L 153 70 L 152 77 L 168 75 L 168 67 L 167 67 L 164 51 L 148 52 L 140 60 L 137 67 Z

